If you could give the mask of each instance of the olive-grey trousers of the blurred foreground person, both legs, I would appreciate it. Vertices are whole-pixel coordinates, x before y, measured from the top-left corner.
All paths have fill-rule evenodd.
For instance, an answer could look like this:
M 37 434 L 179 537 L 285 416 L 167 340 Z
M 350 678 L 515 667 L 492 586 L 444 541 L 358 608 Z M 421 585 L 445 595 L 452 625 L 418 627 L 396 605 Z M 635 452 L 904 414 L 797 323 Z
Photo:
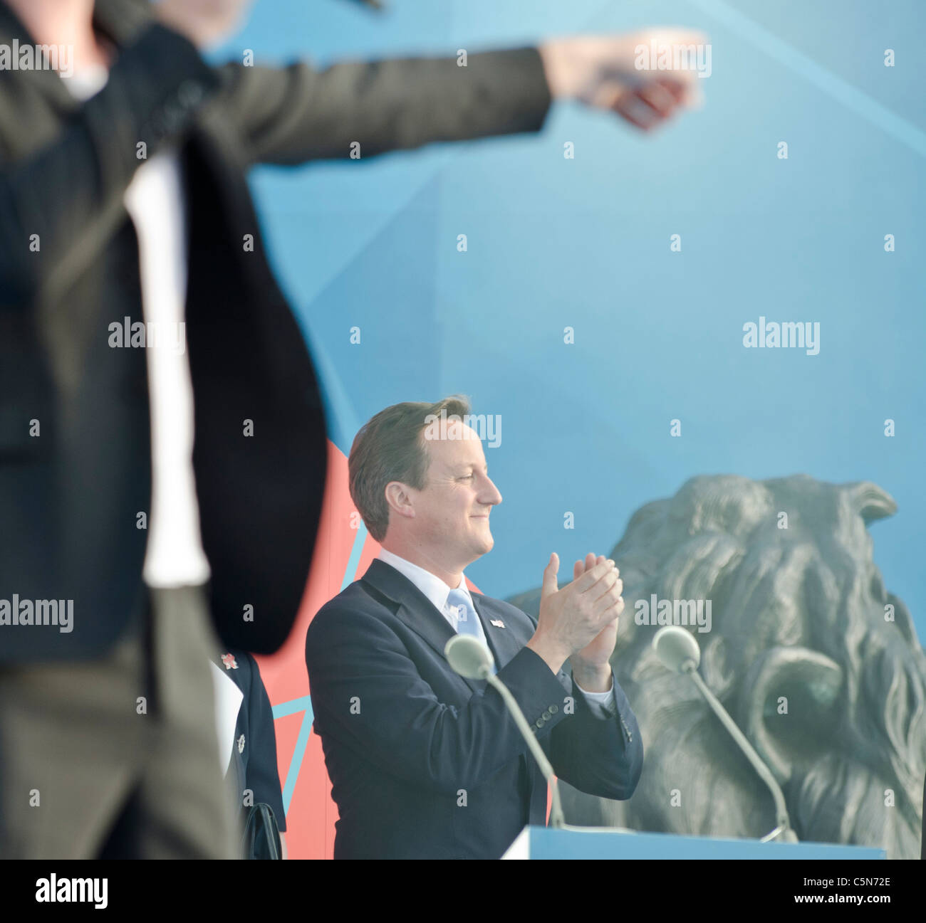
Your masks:
M 3 857 L 237 857 L 201 589 L 153 590 L 145 622 L 103 658 L 0 668 Z

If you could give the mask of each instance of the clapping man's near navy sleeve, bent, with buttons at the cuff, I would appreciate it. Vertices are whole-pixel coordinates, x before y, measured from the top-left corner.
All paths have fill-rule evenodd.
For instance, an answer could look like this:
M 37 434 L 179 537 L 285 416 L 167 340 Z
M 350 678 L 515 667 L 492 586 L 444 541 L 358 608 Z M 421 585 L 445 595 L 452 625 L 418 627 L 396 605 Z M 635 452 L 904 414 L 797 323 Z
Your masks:
M 322 738 L 429 791 L 473 788 L 527 752 L 494 689 L 474 693 L 463 708 L 444 704 L 399 636 L 373 614 L 322 609 L 309 626 L 306 661 Z M 566 691 L 530 648 L 498 677 L 529 721 L 551 705 L 563 717 Z

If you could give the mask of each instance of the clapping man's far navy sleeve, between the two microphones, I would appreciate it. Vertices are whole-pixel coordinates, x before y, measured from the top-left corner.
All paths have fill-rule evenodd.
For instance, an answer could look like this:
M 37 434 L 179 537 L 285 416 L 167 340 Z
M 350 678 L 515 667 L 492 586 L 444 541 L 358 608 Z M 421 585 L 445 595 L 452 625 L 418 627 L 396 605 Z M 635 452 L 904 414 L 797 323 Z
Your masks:
M 643 771 L 643 741 L 617 677 L 614 694 L 617 714 L 604 718 L 594 714 L 580 690 L 573 689 L 575 713 L 571 720 L 557 724 L 546 749 L 559 779 L 586 794 L 625 800 Z

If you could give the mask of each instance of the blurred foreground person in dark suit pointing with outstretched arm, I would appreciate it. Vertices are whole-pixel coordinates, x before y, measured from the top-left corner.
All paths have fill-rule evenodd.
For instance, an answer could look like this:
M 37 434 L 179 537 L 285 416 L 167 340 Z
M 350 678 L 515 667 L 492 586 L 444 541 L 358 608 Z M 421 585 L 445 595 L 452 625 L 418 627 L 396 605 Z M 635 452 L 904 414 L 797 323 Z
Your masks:
M 689 98 L 617 39 L 207 66 L 243 6 L 0 3 L 0 855 L 236 854 L 206 660 L 286 638 L 326 460 L 245 168 Z

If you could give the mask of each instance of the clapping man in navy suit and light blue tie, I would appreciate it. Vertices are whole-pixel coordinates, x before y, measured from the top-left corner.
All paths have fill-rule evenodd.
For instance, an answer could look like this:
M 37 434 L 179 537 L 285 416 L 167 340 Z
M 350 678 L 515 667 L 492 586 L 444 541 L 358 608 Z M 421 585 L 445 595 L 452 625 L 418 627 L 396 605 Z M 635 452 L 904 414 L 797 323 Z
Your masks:
M 466 585 L 501 502 L 468 413 L 459 398 L 396 404 L 351 449 L 351 496 L 382 551 L 306 639 L 335 858 L 497 858 L 544 823 L 544 777 L 502 698 L 444 658 L 455 632 L 491 648 L 559 778 L 616 799 L 640 778 L 640 731 L 608 663 L 623 609 L 614 561 L 589 555 L 557 589 L 551 555 L 536 624 Z

